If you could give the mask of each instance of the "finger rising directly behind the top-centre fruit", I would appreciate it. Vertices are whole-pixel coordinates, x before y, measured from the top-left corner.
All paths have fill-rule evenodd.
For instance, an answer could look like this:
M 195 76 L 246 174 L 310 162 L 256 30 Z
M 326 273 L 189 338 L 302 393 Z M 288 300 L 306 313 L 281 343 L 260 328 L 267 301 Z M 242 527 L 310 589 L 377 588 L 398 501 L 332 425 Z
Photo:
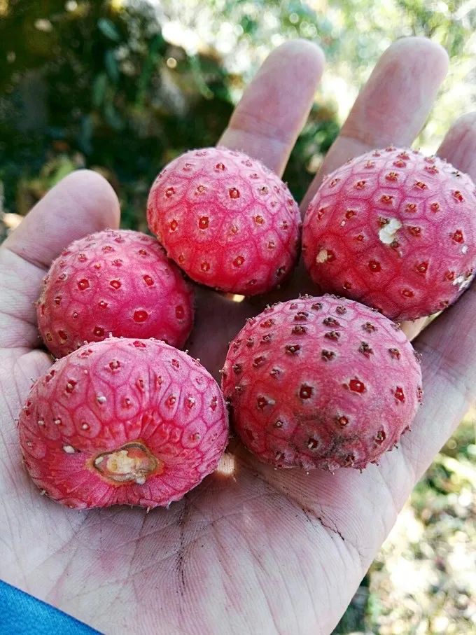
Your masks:
M 320 48 L 293 40 L 276 48 L 246 89 L 219 141 L 283 174 L 324 66 Z

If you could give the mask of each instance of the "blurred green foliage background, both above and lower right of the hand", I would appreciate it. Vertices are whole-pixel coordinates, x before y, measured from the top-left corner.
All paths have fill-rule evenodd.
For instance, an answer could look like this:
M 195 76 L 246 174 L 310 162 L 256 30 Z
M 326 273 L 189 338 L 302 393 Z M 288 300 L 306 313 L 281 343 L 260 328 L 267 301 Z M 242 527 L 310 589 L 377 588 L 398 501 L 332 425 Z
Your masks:
M 416 140 L 432 153 L 475 107 L 475 26 L 474 0 L 0 0 L 0 232 L 78 167 L 109 179 L 123 226 L 146 229 L 159 169 L 215 144 L 267 53 L 297 36 L 328 61 L 286 169 L 297 199 L 400 36 L 430 37 L 451 60 Z M 336 633 L 476 632 L 475 419 L 416 488 Z

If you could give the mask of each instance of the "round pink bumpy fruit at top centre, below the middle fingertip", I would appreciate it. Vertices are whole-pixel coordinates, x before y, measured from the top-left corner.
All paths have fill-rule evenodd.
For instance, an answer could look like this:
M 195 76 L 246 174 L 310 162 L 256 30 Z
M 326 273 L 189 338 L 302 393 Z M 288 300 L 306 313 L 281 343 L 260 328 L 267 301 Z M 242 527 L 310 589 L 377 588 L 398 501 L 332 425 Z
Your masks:
M 148 197 L 148 225 L 193 280 L 256 295 L 281 283 L 300 246 L 287 186 L 258 160 L 204 148 L 169 163 Z

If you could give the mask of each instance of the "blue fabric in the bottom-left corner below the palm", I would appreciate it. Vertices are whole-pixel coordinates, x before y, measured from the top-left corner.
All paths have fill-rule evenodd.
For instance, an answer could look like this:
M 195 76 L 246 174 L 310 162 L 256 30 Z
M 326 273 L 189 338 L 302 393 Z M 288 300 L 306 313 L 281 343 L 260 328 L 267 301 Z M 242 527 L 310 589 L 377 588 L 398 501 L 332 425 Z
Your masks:
M 1 635 L 94 635 L 96 631 L 54 606 L 0 580 Z

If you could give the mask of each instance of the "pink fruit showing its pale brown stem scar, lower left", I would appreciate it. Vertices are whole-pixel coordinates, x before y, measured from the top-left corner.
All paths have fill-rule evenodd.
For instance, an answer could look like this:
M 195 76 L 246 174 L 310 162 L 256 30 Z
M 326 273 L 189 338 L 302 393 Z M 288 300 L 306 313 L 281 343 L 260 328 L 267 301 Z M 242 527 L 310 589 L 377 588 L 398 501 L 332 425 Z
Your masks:
M 228 413 L 207 370 L 158 340 L 111 338 L 57 361 L 20 414 L 25 464 L 71 508 L 178 501 L 217 466 Z

